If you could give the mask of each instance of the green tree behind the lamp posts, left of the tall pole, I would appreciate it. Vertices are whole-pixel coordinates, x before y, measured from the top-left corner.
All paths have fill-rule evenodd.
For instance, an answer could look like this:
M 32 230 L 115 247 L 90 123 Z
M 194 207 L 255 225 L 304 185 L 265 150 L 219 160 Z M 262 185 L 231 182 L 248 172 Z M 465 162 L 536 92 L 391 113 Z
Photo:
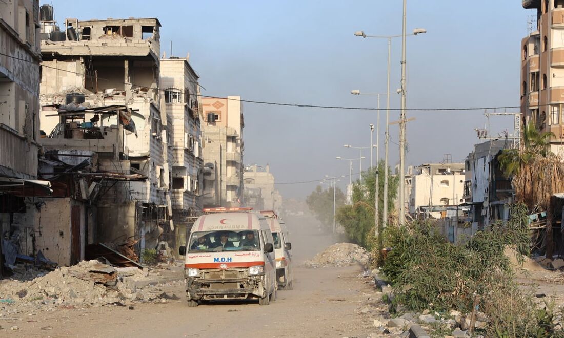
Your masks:
M 336 219 L 343 226 L 351 241 L 378 251 L 384 246 L 381 236 L 376 239 L 374 234 L 374 196 L 376 195 L 376 172 L 384 173 L 384 161 L 378 162 L 378 167 L 372 167 L 363 172 L 361 179 L 356 180 L 352 186 L 352 204 L 338 209 Z M 388 172 L 391 169 L 388 167 Z M 388 176 L 388 214 L 394 209 L 396 194 L 398 192 L 398 177 Z M 378 177 L 378 234 L 382 233 L 382 211 L 384 211 L 384 175 Z

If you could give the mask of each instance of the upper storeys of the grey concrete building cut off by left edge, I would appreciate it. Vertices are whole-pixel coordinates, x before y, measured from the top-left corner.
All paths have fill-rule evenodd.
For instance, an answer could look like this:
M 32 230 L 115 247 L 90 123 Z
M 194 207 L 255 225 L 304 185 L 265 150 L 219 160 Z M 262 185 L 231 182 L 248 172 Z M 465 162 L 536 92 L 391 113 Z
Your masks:
M 0 177 L 35 179 L 41 61 L 38 0 L 0 2 L 0 42 Z

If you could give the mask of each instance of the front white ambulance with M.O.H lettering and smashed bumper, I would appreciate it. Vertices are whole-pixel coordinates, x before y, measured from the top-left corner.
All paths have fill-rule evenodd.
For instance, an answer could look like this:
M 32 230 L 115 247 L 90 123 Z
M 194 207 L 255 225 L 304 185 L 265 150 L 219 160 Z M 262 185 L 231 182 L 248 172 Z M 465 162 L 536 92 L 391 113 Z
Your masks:
M 252 208 L 204 209 L 186 247 L 184 277 L 188 306 L 202 300 L 276 300 L 274 239 L 265 216 Z

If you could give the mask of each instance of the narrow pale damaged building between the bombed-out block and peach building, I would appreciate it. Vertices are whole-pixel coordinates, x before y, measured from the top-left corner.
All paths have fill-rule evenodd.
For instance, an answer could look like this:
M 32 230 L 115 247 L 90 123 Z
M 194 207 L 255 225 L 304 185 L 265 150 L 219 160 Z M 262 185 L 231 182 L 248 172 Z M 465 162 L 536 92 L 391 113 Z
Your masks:
M 173 220 L 178 228 L 175 244 L 178 244 L 184 242 L 187 227 L 202 210 L 198 75 L 188 63 L 188 56 L 161 59 L 161 88 L 164 89 L 161 109 L 168 121 L 171 198 Z

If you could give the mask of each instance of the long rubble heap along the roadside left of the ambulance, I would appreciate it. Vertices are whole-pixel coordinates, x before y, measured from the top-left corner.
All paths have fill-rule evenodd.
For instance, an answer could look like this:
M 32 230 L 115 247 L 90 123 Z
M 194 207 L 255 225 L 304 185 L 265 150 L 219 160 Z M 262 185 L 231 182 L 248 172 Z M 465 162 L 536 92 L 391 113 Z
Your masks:
M 114 268 L 97 260 L 61 267 L 31 281 L 0 281 L 0 308 L 87 308 L 131 305 L 137 301 L 174 299 L 174 295 L 151 295 L 138 285 L 149 280 L 148 272 L 135 267 Z M 158 290 L 157 290 L 158 291 Z

